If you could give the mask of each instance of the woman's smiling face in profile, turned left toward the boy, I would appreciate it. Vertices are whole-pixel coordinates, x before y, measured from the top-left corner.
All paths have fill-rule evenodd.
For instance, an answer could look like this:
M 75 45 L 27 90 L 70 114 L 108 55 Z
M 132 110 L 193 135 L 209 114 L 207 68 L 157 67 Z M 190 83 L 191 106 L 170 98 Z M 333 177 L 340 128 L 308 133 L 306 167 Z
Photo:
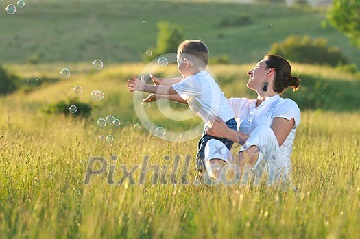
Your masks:
M 266 60 L 261 60 L 258 62 L 252 70 L 248 71 L 249 81 L 246 86 L 251 90 L 260 91 L 263 88 L 263 83 L 266 80 L 267 75 L 267 65 Z

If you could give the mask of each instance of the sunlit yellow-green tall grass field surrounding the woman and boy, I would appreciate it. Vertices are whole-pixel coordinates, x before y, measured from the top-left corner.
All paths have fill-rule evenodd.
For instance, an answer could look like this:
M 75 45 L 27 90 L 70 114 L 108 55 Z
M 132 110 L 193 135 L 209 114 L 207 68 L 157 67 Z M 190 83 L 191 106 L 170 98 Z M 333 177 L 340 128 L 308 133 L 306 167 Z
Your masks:
M 215 65 L 211 70 L 227 97 L 254 97 L 245 89 L 245 72 L 251 66 Z M 41 80 L 44 75 L 57 77 L 62 64 L 7 68 L 22 79 Z M 318 95 L 320 99 L 313 99 L 318 105 L 307 108 L 320 86 L 311 89 L 313 82 L 304 77 L 299 92 L 287 92 L 302 108 L 292 155 L 296 193 L 267 186 L 193 186 L 197 139 L 167 142 L 132 127 L 139 121 L 124 80 L 142 68 L 125 64 L 93 72 L 91 65 L 78 64 L 69 79 L 0 98 L 0 238 L 359 238 L 360 113 L 354 102 L 359 99 L 358 75 L 293 64 L 300 76 L 316 73 L 322 86 L 338 93 L 328 101 Z M 174 71 L 169 65 L 154 73 L 167 76 Z M 343 87 L 330 84 L 336 81 Z M 95 107 L 88 119 L 40 111 L 73 97 L 75 85 L 84 89 L 80 101 Z M 105 92 L 103 101 L 91 101 L 94 89 Z M 336 111 L 346 103 L 352 106 Z M 176 106 L 177 111 L 184 109 Z M 121 127 L 99 129 L 97 118 L 108 114 L 120 118 Z M 171 121 L 158 114 L 156 105 L 148 114 L 167 131 L 200 122 Z M 99 140 L 101 133 L 112 134 L 114 142 Z M 162 171 L 167 184 L 152 185 L 152 171 L 139 184 L 139 167 L 133 174 L 136 184 L 125 179 L 115 185 L 124 176 L 121 165 L 130 171 L 141 166 L 146 155 L 149 165 L 167 169 Z M 177 155 L 178 182 L 187 155 L 191 157 L 189 184 L 169 183 Z M 86 185 L 86 164 L 92 156 L 105 158 L 108 165 Z M 95 164 L 94 170 L 101 166 Z M 111 179 L 114 184 L 108 184 Z

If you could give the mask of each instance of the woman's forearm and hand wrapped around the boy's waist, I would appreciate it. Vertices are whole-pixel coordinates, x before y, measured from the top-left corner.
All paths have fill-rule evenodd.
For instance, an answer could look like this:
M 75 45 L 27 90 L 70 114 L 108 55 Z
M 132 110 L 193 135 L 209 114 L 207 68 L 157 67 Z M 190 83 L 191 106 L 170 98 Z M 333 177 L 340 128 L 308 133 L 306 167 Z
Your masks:
M 232 142 L 237 142 L 238 144 L 244 144 L 244 142 L 248 139 L 248 134 L 243 134 L 234 129 L 230 129 L 228 125 L 225 124 L 224 121 L 221 121 L 219 118 L 215 118 L 214 121 L 211 122 L 213 125 L 211 128 L 206 130 L 206 134 L 210 136 L 215 136 L 217 138 L 226 138 L 231 140 Z

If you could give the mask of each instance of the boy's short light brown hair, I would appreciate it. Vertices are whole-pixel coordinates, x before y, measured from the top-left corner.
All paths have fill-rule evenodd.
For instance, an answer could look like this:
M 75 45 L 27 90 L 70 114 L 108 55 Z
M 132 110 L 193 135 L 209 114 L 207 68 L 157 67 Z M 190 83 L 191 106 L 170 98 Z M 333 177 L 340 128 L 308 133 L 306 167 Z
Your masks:
M 193 66 L 206 69 L 208 66 L 208 47 L 201 40 L 184 40 L 178 46 L 180 58 L 190 58 Z

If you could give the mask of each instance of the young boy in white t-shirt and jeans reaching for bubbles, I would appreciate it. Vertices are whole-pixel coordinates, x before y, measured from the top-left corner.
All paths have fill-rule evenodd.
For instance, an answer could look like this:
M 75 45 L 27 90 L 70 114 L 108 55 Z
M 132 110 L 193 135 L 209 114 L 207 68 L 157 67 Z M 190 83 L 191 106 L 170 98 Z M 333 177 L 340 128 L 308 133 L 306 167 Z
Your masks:
M 185 40 L 178 46 L 178 71 L 183 79 L 157 79 L 151 75 L 154 83 L 158 86 L 145 84 L 144 76 L 134 80 L 128 80 L 130 92 L 143 91 L 156 95 L 149 95 L 144 101 L 156 101 L 157 98 L 166 98 L 180 103 L 187 103 L 192 112 L 208 123 L 211 118 L 220 118 L 231 129 L 237 130 L 237 123 L 234 119 L 228 99 L 224 92 L 219 88 L 213 77 L 206 71 L 208 65 L 208 48 L 200 40 Z M 204 133 L 199 140 L 196 155 L 196 170 L 200 175 L 205 172 L 204 168 L 204 149 L 205 145 L 213 136 Z M 225 138 L 215 138 L 223 142 L 230 150 L 233 142 Z

